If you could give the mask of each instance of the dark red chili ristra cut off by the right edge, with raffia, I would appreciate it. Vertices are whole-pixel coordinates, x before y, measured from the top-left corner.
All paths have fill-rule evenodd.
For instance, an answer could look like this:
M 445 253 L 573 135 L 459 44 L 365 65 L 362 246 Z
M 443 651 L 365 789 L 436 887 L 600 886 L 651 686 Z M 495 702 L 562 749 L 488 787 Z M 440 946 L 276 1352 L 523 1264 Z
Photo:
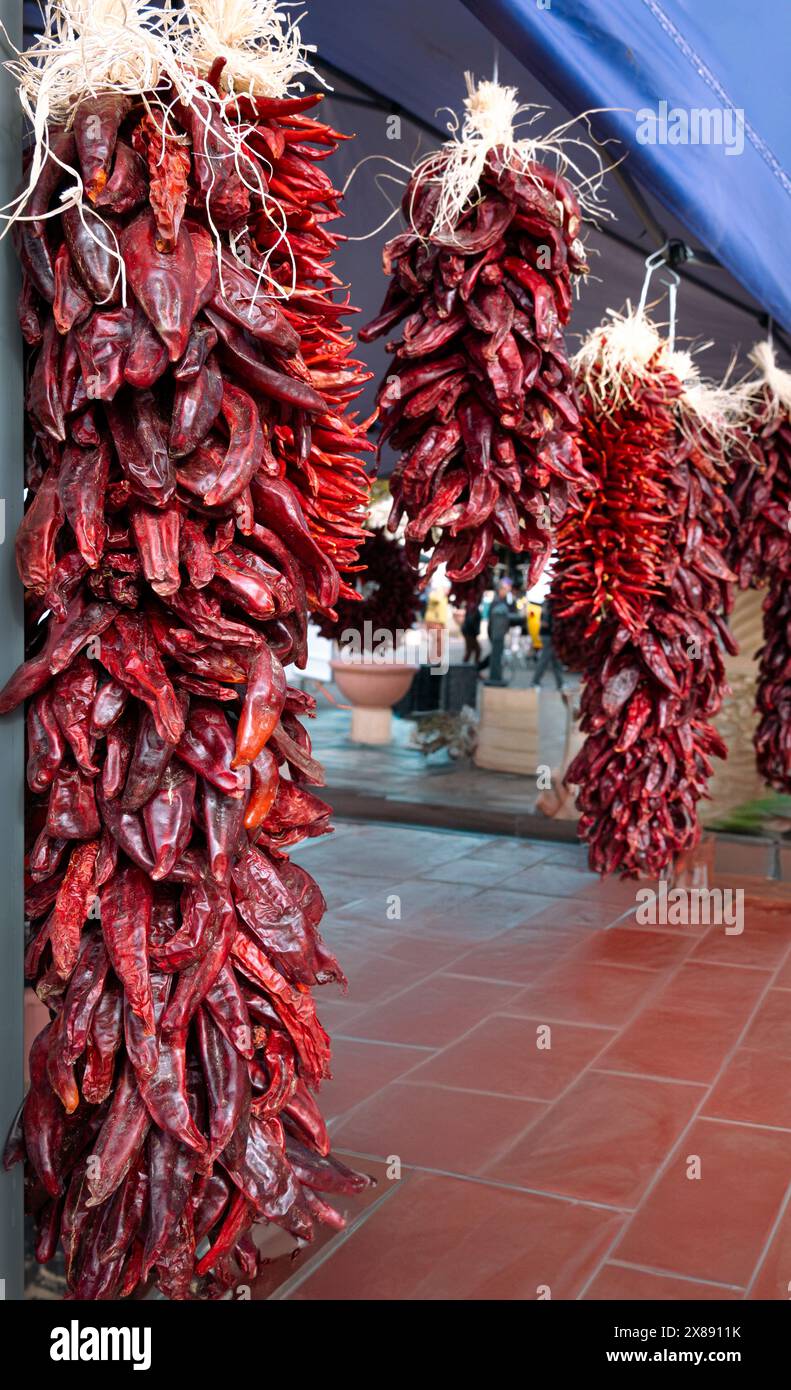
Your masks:
M 758 677 L 758 770 L 791 791 L 791 375 L 769 343 L 753 350 L 759 378 L 745 396 L 745 448 L 731 489 L 730 563 L 740 588 L 767 587 Z

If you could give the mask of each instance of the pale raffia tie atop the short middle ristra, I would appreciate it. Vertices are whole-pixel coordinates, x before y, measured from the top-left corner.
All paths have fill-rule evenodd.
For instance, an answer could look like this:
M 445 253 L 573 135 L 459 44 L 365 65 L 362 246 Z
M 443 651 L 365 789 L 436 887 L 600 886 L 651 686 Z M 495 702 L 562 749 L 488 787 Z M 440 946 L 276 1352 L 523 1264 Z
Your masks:
M 594 218 L 610 215 L 601 202 L 605 172 L 601 150 L 594 143 L 567 133 L 577 120 L 584 117 L 569 121 L 544 136 L 517 136 L 517 125 L 532 125 L 541 120 L 545 108 L 530 103 L 520 104 L 516 88 L 500 86 L 496 81 L 475 83 L 471 72 L 464 74 L 464 81 L 467 83 L 464 117 L 459 122 L 452 115 L 448 122 L 453 138 L 420 160 L 411 174 L 405 213 L 418 236 L 428 235 L 431 240 L 446 240 L 449 246 L 453 245 L 455 228 L 481 196 L 481 179 L 487 163 L 495 153 L 502 170 L 531 179 L 537 186 L 544 186 L 538 165 L 546 161 L 552 163 L 559 177 L 571 172 L 580 207 Z M 531 115 L 517 122 L 517 117 L 523 113 Z M 576 163 L 571 152 L 577 149 L 594 154 L 596 170 L 591 177 L 585 177 Z M 428 229 L 423 224 L 417 225 L 414 215 L 418 195 L 425 190 L 425 185 L 435 193 Z

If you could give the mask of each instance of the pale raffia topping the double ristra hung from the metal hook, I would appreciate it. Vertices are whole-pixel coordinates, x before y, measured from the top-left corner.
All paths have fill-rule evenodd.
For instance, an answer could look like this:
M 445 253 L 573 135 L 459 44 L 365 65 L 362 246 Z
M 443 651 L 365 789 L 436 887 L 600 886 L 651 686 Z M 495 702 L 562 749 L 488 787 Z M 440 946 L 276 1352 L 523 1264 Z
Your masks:
M 702 345 L 710 346 L 710 345 Z M 601 414 L 634 404 L 646 389 L 673 404 L 684 435 L 701 430 L 724 441 L 742 414 L 738 392 L 701 377 L 691 352 L 671 349 L 659 327 L 639 309 L 607 310 L 571 359 L 577 385 Z

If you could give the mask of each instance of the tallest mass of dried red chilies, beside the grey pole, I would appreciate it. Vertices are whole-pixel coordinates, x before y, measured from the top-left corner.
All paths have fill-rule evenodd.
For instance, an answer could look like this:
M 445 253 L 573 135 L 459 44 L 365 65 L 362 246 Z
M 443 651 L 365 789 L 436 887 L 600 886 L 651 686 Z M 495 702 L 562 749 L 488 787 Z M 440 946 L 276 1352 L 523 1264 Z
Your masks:
M 14 235 L 28 345 L 26 976 L 50 1011 L 6 1162 L 70 1295 L 252 1279 L 256 1222 L 342 1226 L 311 1091 L 342 980 L 286 851 L 331 827 L 286 684 L 363 539 L 316 96 L 160 81 L 49 131 Z M 243 131 L 231 146 L 228 131 Z M 58 208 L 70 168 L 85 200 Z M 124 275 L 120 274 L 122 265 Z M 124 297 L 124 281 L 127 293 Z

